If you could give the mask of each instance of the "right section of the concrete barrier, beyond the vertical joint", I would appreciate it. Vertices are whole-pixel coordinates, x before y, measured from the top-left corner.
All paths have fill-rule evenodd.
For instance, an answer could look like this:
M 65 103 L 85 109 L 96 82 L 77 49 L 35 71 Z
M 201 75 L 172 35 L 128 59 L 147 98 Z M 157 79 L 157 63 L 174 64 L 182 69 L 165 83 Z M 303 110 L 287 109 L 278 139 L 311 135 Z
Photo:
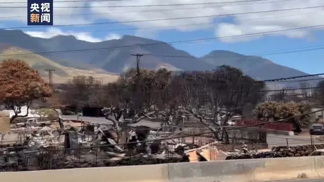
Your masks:
M 288 157 L 169 164 L 170 182 L 261 182 L 324 177 L 324 157 Z

